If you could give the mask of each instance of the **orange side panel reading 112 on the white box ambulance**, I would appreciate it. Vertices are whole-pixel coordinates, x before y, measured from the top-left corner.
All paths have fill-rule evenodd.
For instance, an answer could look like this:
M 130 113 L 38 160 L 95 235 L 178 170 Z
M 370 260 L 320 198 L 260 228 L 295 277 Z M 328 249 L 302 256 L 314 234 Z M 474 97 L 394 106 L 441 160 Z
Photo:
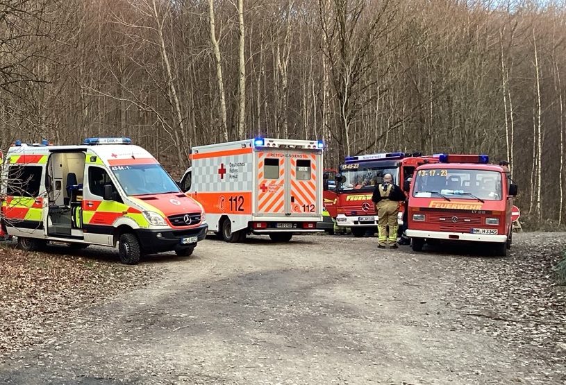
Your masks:
M 190 194 L 205 214 L 251 214 L 251 191 L 226 191 Z

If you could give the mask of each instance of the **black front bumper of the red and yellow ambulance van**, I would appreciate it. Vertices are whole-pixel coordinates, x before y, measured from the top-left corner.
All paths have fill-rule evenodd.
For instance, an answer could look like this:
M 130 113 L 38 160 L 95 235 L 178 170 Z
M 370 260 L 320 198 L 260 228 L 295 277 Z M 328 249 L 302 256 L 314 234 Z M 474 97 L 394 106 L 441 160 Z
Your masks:
M 194 246 L 197 246 L 197 243 L 181 244 L 181 239 L 197 237 L 197 241 L 202 241 L 206 238 L 207 232 L 207 223 L 199 225 L 198 228 L 188 230 L 137 230 L 142 250 L 145 253 L 163 253 L 164 251 L 194 248 Z

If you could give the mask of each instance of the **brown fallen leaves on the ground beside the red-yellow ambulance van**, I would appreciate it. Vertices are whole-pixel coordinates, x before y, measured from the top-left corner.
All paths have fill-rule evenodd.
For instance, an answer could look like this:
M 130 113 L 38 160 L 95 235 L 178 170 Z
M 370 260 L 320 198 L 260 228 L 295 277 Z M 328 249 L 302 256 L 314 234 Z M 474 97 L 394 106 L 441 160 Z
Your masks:
M 149 271 L 0 243 L 0 355 L 42 343 L 83 307 L 146 282 Z

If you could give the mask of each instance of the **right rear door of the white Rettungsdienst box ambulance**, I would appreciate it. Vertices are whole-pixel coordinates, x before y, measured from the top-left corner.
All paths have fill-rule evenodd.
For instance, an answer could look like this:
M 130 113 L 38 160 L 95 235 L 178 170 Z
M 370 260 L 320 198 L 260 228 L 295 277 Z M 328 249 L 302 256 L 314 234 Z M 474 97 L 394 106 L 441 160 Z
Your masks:
M 285 214 L 288 216 L 319 215 L 319 157 L 310 151 L 288 151 L 285 157 Z

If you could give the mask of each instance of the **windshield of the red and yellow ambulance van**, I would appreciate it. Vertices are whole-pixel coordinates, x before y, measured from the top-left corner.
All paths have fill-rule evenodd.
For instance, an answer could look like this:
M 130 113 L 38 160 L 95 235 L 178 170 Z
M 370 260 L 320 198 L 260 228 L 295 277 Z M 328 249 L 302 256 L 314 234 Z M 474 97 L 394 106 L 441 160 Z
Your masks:
M 160 164 L 111 166 L 110 169 L 128 196 L 180 192 Z

